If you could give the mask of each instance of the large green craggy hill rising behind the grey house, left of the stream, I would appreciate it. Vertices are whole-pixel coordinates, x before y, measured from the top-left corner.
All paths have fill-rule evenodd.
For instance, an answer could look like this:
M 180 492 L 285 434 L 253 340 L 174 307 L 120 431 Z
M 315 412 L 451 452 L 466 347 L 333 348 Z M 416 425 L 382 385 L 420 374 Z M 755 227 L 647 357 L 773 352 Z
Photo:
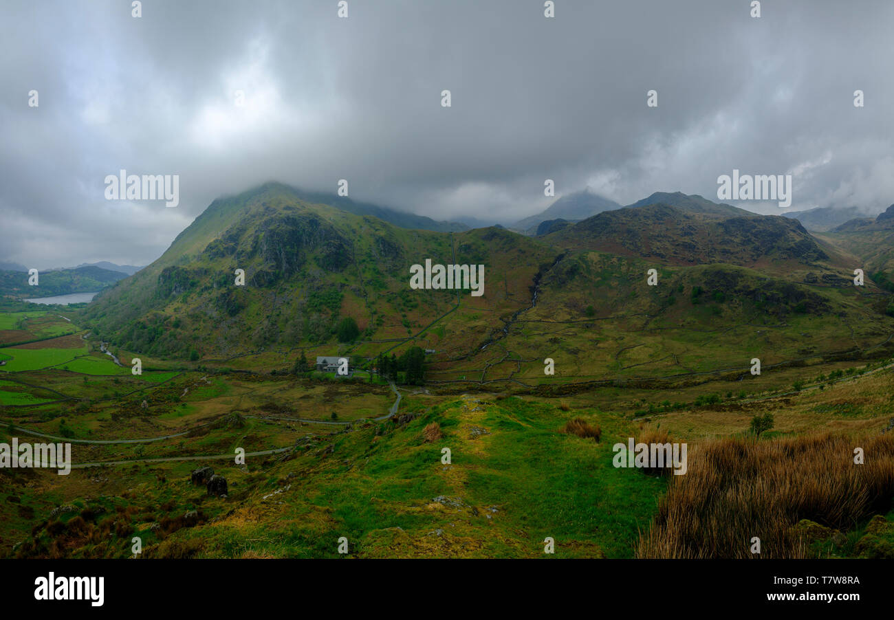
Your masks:
M 406 230 L 268 185 L 212 203 L 164 256 L 97 296 L 85 319 L 129 351 L 227 357 L 334 343 L 345 316 L 358 323 L 362 341 L 405 340 L 460 303 L 468 312 L 443 329 L 472 342 L 492 322 L 471 317 L 529 304 L 535 275 L 552 256 L 507 230 Z M 484 295 L 409 289 L 410 265 L 426 258 L 485 264 Z M 237 269 L 245 286 L 235 285 Z

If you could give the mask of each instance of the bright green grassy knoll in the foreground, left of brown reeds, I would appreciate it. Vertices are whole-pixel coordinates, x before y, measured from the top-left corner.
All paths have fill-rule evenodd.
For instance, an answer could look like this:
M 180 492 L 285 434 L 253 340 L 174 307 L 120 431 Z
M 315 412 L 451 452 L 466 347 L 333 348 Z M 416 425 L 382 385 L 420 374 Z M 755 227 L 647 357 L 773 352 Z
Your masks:
M 422 429 L 432 422 L 444 436 L 426 443 Z M 246 472 L 211 462 L 230 483 L 228 499 L 184 487 L 201 463 L 124 469 L 119 482 L 131 491 L 122 504 L 142 515 L 131 517 L 133 528 L 153 557 L 336 557 L 341 536 L 358 557 L 543 557 L 547 536 L 558 557 L 630 557 L 663 482 L 615 470 L 608 442 L 561 433 L 562 423 L 552 406 L 460 399 L 403 427 L 385 423 L 381 435 L 371 425 L 320 436 L 281 464 L 249 458 Z M 610 424 L 611 437 L 625 434 L 624 423 Z M 451 465 L 440 460 L 445 446 Z M 169 482 L 158 482 L 159 471 Z M 65 491 L 80 495 L 85 475 L 72 473 Z M 81 500 L 88 504 L 96 501 Z M 218 518 L 167 540 L 148 527 L 192 508 Z M 102 551 L 88 542 L 75 555 L 109 552 L 105 541 Z

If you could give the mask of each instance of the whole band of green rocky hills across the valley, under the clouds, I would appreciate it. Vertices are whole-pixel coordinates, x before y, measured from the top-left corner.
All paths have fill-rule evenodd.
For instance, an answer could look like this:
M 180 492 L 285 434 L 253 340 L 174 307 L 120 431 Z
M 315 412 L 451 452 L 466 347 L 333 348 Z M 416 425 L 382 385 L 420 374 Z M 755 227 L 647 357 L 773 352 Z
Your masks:
M 401 229 L 267 185 L 215 201 L 84 321 L 133 355 L 283 371 L 299 348 L 369 359 L 417 345 L 434 350 L 429 381 L 457 387 L 705 381 L 741 376 L 753 357 L 887 355 L 890 293 L 855 287 L 846 252 L 795 220 L 679 196 L 530 239 Z M 409 266 L 426 258 L 485 264 L 485 294 L 409 289 Z M 358 323 L 352 343 L 338 342 L 343 317 Z

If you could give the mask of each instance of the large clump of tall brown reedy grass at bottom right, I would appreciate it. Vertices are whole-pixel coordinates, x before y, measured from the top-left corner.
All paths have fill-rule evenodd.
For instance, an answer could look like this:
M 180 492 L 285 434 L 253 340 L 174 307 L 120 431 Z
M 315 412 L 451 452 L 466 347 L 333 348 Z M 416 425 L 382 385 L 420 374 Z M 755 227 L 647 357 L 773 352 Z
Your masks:
M 864 448 L 864 464 L 854 448 Z M 848 439 L 831 434 L 755 442 L 714 440 L 672 476 L 638 557 L 814 557 L 798 532 L 802 519 L 850 529 L 886 512 L 894 494 L 894 435 Z

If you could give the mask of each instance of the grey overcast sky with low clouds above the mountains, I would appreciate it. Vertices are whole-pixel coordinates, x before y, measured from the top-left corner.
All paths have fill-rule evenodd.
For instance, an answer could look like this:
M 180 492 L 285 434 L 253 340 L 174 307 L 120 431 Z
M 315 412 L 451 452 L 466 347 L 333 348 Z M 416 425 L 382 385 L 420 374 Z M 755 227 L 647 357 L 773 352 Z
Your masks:
M 0 260 L 148 264 L 266 180 L 438 220 L 535 214 L 545 179 L 716 200 L 734 168 L 791 173 L 790 210 L 894 202 L 886 0 L 337 4 L 2 0 Z M 121 169 L 180 205 L 105 200 Z

